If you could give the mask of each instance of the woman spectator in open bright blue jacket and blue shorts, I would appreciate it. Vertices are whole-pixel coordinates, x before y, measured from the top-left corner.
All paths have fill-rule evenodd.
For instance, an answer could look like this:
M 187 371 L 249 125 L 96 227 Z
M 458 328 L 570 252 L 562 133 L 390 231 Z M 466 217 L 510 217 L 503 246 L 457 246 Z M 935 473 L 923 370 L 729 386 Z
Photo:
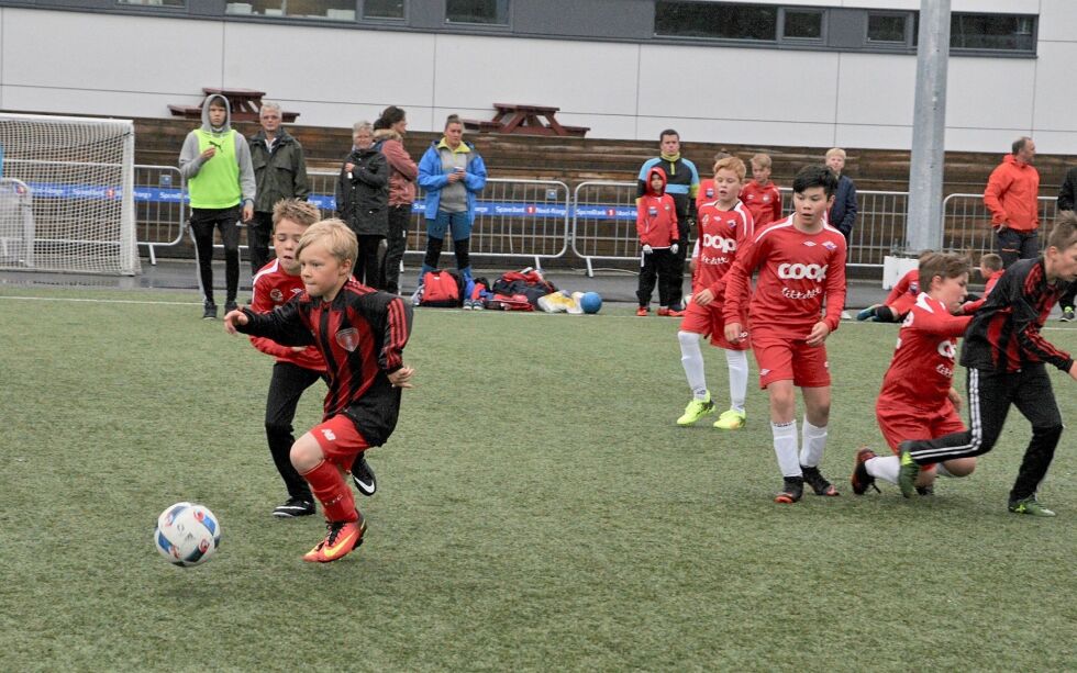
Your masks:
M 419 271 L 423 276 L 437 268 L 445 234 L 453 236 L 456 268 L 464 282 L 471 280 L 471 223 L 476 194 L 486 187 L 486 165 L 475 146 L 464 142 L 464 123 L 455 114 L 445 120 L 445 135 L 431 143 L 419 161 L 419 187 L 426 195 L 426 256 Z M 415 298 L 420 292 L 415 292 Z

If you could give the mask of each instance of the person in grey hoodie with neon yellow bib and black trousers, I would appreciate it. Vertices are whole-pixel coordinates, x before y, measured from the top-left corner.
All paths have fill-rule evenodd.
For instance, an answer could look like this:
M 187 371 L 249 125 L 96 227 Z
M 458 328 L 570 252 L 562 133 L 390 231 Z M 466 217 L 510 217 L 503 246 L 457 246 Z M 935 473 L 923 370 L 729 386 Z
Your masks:
M 213 229 L 224 244 L 224 312 L 235 310 L 240 285 L 238 220 L 254 216 L 254 168 L 246 138 L 231 126 L 232 110 L 223 96 L 206 97 L 202 125 L 187 134 L 179 150 L 179 172 L 190 197 L 191 235 L 198 280 L 206 303 L 202 318 L 216 317 L 213 301 Z

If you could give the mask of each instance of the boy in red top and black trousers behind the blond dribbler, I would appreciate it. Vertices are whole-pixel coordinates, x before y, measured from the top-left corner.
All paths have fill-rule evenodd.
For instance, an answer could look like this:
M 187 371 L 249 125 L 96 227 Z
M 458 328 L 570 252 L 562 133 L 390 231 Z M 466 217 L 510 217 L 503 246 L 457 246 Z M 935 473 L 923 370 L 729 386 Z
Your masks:
M 299 199 L 282 199 L 274 206 L 273 244 L 277 258 L 255 273 L 252 311 L 269 313 L 303 293 L 296 248 L 307 228 L 319 218 L 318 207 Z M 276 359 L 266 397 L 266 439 L 273 462 L 288 490 L 288 500 L 278 505 L 273 515 L 282 518 L 309 516 L 314 514 L 314 497 L 289 459 L 291 446 L 296 444 L 291 422 L 303 391 L 325 377 L 325 360 L 313 346 L 281 346 L 273 339 L 256 336 L 251 337 L 251 343 Z M 356 484 L 367 486 L 360 486 L 359 492 L 373 495 L 377 482 L 363 453 L 356 458 L 352 473 Z

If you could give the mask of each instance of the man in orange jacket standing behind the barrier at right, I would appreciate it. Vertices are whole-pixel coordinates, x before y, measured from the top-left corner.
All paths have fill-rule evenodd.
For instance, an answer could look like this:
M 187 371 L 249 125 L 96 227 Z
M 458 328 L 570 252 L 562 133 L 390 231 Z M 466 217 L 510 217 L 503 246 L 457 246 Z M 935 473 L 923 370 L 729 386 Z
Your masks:
M 1036 144 L 1022 136 L 1013 141 L 1012 149 L 991 171 L 984 190 L 1006 268 L 1040 255 L 1040 173 L 1032 166 Z

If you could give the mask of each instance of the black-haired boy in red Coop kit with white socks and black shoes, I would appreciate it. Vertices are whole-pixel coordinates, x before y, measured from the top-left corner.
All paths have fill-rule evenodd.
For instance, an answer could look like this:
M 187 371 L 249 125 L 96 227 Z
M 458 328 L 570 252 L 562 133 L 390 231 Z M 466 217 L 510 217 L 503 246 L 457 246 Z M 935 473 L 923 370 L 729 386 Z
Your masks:
M 824 220 L 835 186 L 825 166 L 800 169 L 792 182 L 792 215 L 757 233 L 725 276 L 725 338 L 737 344 L 747 338 L 740 315 L 748 279 L 759 271 L 748 321 L 759 385 L 770 395 L 774 451 L 785 482 L 777 503 L 799 501 L 804 482 L 817 495 L 837 495 L 819 471 L 830 419 L 823 343 L 837 329 L 845 304 L 845 237 Z M 793 386 L 804 399 L 799 451 Z

